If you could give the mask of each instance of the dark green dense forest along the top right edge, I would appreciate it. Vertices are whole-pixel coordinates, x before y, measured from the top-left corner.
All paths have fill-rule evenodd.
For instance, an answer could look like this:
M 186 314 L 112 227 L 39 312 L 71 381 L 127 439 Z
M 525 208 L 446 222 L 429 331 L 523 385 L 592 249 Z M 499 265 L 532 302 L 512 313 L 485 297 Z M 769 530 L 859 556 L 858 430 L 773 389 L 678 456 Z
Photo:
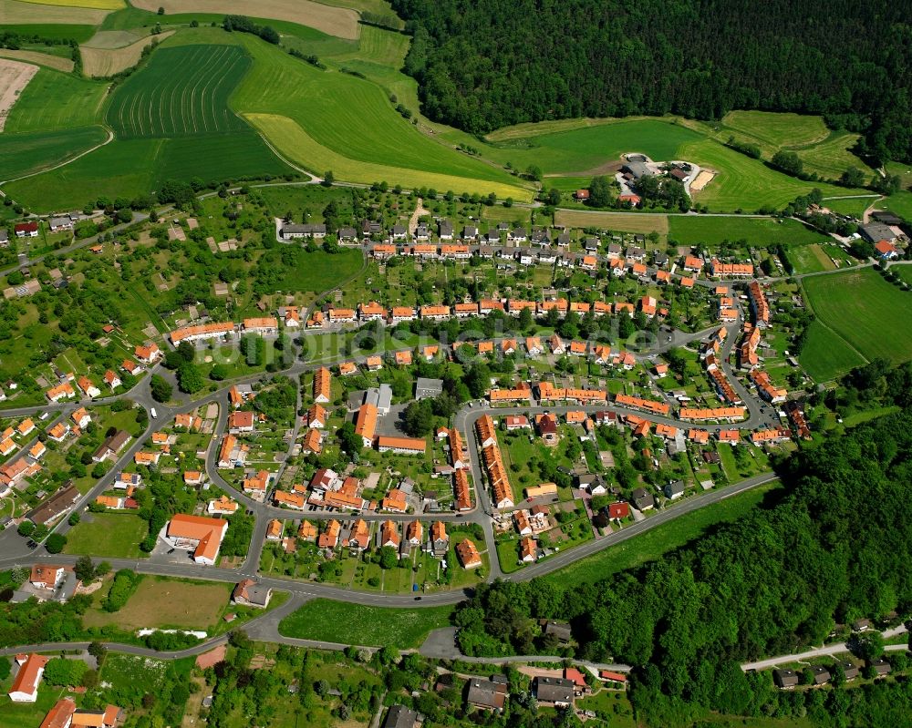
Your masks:
M 424 113 L 475 134 L 523 121 L 735 108 L 823 114 L 872 159 L 912 159 L 907 3 L 392 0 Z

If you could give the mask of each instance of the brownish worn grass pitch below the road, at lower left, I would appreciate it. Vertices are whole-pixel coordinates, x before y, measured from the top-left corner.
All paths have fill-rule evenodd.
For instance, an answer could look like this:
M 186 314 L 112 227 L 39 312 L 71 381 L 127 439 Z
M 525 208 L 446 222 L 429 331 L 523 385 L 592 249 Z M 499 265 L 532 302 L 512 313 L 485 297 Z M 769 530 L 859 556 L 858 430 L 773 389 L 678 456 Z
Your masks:
M 113 624 L 129 631 L 155 627 L 210 630 L 222 616 L 232 589 L 232 584 L 145 576 L 123 608 L 116 612 L 88 610 L 82 621 L 86 627 Z

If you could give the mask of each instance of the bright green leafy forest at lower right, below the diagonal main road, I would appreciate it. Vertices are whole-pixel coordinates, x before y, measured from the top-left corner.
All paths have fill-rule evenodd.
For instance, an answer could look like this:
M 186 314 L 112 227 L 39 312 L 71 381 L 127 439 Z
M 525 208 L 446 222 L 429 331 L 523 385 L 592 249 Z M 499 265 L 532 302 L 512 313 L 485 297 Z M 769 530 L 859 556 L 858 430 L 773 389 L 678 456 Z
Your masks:
M 883 372 L 867 375 L 885 391 Z M 688 725 L 707 709 L 802 714 L 801 693 L 774 692 L 768 674 L 739 663 L 820 644 L 836 623 L 912 609 L 910 453 L 907 407 L 795 453 L 781 465 L 778 503 L 662 560 L 566 590 L 554 579 L 482 586 L 456 615 L 462 649 L 553 651 L 537 620 L 569 620 L 577 656 L 637 666 L 632 695 L 650 725 Z M 808 700 L 823 700 L 814 693 Z M 848 705 L 820 710 L 845 715 Z

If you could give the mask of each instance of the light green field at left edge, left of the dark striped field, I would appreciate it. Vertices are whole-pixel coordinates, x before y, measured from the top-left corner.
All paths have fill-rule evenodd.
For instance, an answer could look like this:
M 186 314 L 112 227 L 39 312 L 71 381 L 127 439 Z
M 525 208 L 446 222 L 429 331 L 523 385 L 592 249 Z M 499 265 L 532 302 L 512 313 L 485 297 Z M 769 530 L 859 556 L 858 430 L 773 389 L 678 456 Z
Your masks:
M 4 134 L 96 124 L 106 88 L 98 81 L 41 68 L 16 99 Z M 48 99 L 54 99 L 53 103 Z

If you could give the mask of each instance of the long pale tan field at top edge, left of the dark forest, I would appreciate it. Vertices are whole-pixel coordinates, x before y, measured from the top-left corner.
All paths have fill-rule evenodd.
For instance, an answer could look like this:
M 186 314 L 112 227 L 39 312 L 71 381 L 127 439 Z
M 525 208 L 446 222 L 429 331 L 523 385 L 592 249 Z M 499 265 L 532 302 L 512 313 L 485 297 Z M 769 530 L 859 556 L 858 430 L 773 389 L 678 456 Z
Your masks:
M 242 12 L 228 0 L 134 0 L 132 5 L 140 10 L 156 12 L 160 7 L 165 15 L 172 13 L 228 13 Z M 334 7 L 310 0 L 261 0 L 252 15 L 275 18 L 291 23 L 311 26 L 330 36 L 358 37 L 358 13 L 349 8 Z

